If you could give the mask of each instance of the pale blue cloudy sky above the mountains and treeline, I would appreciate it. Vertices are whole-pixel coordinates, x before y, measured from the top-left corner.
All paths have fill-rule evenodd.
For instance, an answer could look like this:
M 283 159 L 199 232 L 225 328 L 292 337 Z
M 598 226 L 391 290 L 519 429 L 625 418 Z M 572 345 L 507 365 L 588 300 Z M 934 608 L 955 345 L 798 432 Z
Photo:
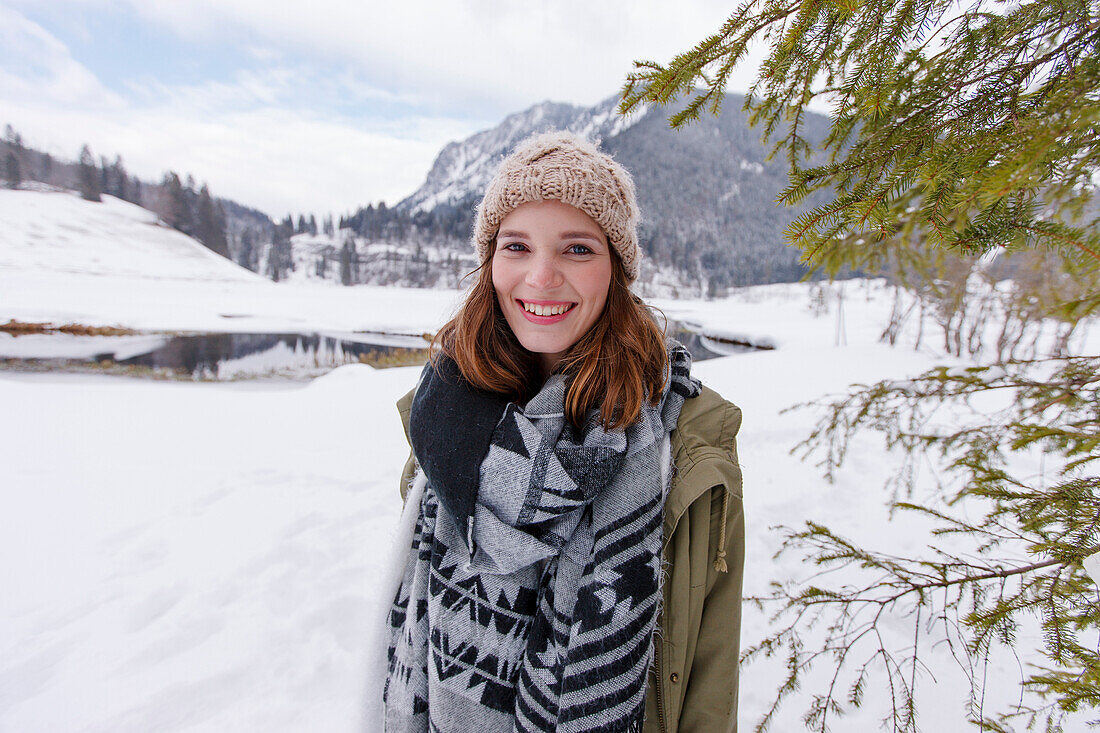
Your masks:
M 715 0 L 0 0 L 0 125 L 275 218 L 396 204 L 448 142 L 717 30 Z M 734 78 L 744 91 L 751 70 Z

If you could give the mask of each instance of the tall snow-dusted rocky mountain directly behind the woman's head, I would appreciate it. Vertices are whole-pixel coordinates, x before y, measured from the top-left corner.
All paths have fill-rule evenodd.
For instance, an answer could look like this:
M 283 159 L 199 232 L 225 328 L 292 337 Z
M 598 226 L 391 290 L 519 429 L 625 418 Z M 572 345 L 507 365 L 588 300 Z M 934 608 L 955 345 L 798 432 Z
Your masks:
M 782 232 L 806 206 L 774 203 L 787 185 L 787 165 L 766 160 L 743 102 L 727 95 L 719 116 L 675 131 L 662 108 L 619 116 L 617 96 L 594 107 L 542 102 L 448 144 L 424 184 L 395 209 L 462 247 L 474 206 L 515 144 L 535 132 L 569 130 L 600 143 L 634 176 L 644 219 L 639 240 L 648 255 L 642 281 L 671 270 L 683 282 L 704 283 L 710 294 L 729 285 L 795 281 L 805 270 Z M 809 114 L 803 135 L 814 143 L 827 128 L 825 117 Z

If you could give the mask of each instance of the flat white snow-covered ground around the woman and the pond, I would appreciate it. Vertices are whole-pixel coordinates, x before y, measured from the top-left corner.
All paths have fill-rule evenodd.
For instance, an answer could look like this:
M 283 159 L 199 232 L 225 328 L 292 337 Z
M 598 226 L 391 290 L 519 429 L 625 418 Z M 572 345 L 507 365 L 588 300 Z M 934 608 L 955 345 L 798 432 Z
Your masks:
M 11 195 L 0 193 L 6 221 L 21 206 Z M 154 281 L 152 271 L 174 271 L 170 259 L 125 275 L 48 260 L 24 267 L 6 254 L 23 244 L 0 239 L 0 322 L 223 330 L 211 327 L 233 329 L 239 320 L 221 317 L 233 314 L 252 319 L 248 330 L 295 320 L 419 332 L 458 297 L 202 273 Z M 694 368 L 745 414 L 748 593 L 810 571 L 772 559 L 776 524 L 812 518 L 898 555 L 925 544 L 920 526 L 887 521 L 892 458 L 875 438 L 857 440 L 827 484 L 789 453 L 813 413 L 780 411 L 947 360 L 878 342 L 890 308 L 881 284 L 835 286 L 817 316 L 809 287 L 657 304 L 716 336 L 778 347 Z M 191 384 L 0 371 L 0 731 L 359 730 L 370 609 L 407 456 L 393 403 L 417 374 L 350 365 L 309 383 Z M 744 642 L 765 628 L 747 608 Z M 944 648 L 928 664 L 923 730 L 966 730 L 958 665 Z M 771 663 L 743 672 L 743 730 L 781 674 Z M 1015 659 L 994 657 L 990 696 L 1013 699 L 1020 674 Z M 873 685 L 868 694 L 833 730 L 878 730 L 883 700 Z M 803 704 L 792 701 L 771 730 L 802 730 Z

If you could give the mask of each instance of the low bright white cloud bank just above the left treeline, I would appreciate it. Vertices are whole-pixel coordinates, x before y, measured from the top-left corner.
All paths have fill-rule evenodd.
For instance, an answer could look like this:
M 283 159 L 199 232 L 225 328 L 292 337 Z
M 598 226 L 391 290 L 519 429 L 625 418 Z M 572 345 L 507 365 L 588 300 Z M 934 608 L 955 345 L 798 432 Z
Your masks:
M 298 110 L 257 108 L 204 117 L 197 105 L 131 108 L 118 114 L 22 105 L 7 119 L 31 144 L 73 158 L 88 143 L 121 154 L 146 179 L 167 169 L 209 182 L 219 196 L 273 217 L 288 211 L 348 211 L 369 201 L 391 205 L 410 194 L 450 140 L 473 132 L 462 122 L 408 121 L 415 135 L 371 132 Z M 30 133 L 30 134 L 29 134 Z

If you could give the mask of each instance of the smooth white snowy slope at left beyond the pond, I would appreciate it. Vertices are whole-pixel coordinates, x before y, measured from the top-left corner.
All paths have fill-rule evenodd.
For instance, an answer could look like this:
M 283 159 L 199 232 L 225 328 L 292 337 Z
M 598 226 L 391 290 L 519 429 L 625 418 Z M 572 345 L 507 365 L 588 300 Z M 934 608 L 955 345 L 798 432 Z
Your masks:
M 424 333 L 459 295 L 416 291 L 394 308 L 383 287 L 275 284 L 111 197 L 0 189 L 0 324 Z

